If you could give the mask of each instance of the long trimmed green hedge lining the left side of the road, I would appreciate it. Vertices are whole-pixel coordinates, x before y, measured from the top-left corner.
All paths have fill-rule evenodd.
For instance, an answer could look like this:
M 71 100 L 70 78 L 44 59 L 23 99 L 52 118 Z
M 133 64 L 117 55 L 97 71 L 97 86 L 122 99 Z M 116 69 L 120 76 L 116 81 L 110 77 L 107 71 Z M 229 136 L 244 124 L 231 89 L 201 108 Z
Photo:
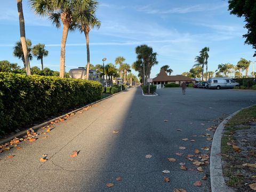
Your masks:
M 99 82 L 0 73 L 0 131 L 10 132 L 101 98 Z

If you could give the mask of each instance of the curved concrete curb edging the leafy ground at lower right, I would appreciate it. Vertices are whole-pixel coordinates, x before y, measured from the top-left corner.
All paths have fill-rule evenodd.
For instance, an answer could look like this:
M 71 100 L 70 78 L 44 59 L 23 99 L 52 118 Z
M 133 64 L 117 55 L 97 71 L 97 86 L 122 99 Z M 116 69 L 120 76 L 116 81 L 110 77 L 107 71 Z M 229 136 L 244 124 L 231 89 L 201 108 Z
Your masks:
M 254 106 L 254 105 L 252 105 Z M 250 107 L 252 107 L 250 106 Z M 247 109 L 250 107 L 242 108 L 235 113 L 229 115 L 225 120 L 223 120 L 219 126 L 217 127 L 212 141 L 212 148 L 211 148 L 211 156 L 210 156 L 210 178 L 211 178 L 211 189 L 212 192 L 234 192 L 233 189 L 229 188 L 225 180 L 223 178 L 222 173 L 222 159 L 221 159 L 221 138 L 222 133 L 227 124 L 228 120 L 232 118 L 234 115 L 239 113 L 239 111 L 243 109 Z

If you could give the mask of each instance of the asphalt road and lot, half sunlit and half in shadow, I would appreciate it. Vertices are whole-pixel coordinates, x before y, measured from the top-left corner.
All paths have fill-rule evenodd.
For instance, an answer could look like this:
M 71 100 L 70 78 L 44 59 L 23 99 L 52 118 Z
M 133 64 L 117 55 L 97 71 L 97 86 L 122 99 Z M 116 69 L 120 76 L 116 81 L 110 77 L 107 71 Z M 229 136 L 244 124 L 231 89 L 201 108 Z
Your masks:
M 201 173 L 181 170 L 179 163 L 196 169 L 185 157 L 196 148 L 209 154 L 202 148 L 211 146 L 199 135 L 212 135 L 208 127 L 254 105 L 256 92 L 187 89 L 182 95 L 181 89 L 170 88 L 157 93 L 158 97 L 143 97 L 140 88 L 130 89 L 54 125 L 47 139 L 42 134 L 35 142 L 21 142 L 21 150 L 4 151 L 0 191 L 210 191 L 210 178 L 201 180 L 209 166 Z M 70 157 L 73 150 L 79 151 L 77 157 Z M 43 154 L 45 163 L 39 162 Z M 152 157 L 145 158 L 148 154 Z M 169 157 L 177 161 L 171 163 Z M 171 181 L 164 182 L 164 177 Z M 193 185 L 197 180 L 201 187 Z M 106 187 L 108 182 L 114 187 Z

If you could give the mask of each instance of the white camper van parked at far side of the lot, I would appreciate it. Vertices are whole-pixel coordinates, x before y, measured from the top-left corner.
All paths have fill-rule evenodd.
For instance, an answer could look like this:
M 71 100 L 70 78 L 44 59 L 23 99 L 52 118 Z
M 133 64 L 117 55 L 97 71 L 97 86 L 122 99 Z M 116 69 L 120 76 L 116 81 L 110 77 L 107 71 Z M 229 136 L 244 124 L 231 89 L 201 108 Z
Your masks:
M 210 89 L 233 89 L 234 86 L 239 86 L 233 79 L 228 77 L 214 77 L 207 81 L 207 88 Z

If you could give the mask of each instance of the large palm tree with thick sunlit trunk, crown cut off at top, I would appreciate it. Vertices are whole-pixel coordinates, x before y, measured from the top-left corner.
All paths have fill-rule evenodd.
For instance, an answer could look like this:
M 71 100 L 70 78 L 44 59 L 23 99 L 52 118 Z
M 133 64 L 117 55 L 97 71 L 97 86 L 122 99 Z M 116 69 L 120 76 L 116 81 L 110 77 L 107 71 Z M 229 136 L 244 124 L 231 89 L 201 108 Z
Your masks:
M 42 16 L 49 16 L 53 25 L 60 28 L 63 25 L 61 45 L 60 45 L 60 77 L 65 74 L 65 53 L 68 31 L 74 30 L 75 15 L 78 12 L 95 9 L 94 0 L 30 0 L 35 13 Z

